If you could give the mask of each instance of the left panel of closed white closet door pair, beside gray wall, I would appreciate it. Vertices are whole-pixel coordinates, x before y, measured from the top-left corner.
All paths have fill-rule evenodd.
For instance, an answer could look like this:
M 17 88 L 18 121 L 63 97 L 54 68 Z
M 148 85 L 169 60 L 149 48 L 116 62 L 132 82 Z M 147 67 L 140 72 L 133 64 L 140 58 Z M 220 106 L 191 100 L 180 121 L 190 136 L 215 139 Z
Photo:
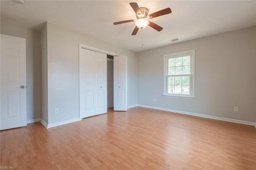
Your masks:
M 80 113 L 82 118 L 95 115 L 94 51 L 80 50 Z

